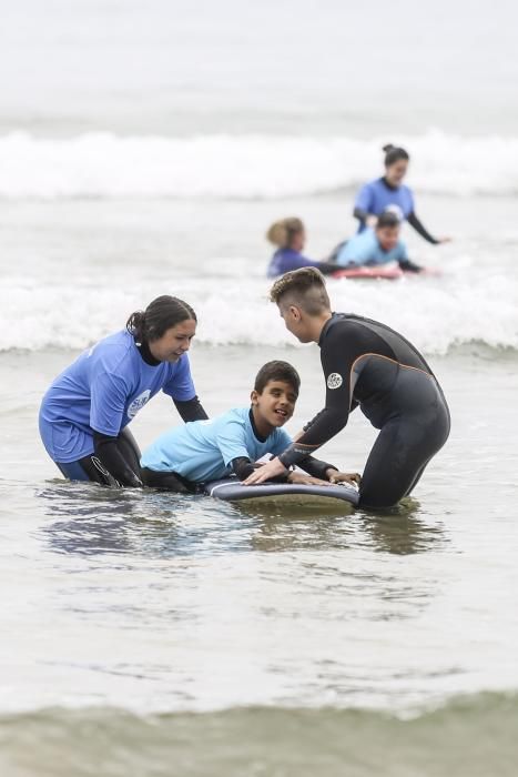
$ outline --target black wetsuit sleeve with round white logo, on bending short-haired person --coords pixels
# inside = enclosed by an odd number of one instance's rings
[[[358,356],[368,353],[364,334],[351,327],[347,336],[332,327],[322,345],[322,367],[326,381],[325,407],[305,426],[304,435],[280,455],[284,466],[298,464],[324,445],[347,424],[353,404],[352,372]]]

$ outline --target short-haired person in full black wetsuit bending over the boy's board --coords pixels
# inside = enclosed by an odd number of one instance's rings
[[[245,484],[274,477],[313,453],[344,428],[359,405],[380,430],[362,476],[359,505],[394,506],[448,438],[449,411],[435,375],[417,349],[385,324],[332,313],[324,278],[314,268],[280,278],[271,300],[297,340],[318,343],[326,404],[281,456]]]

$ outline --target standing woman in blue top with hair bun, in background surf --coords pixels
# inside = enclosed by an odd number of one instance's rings
[[[375,226],[377,218],[383,211],[390,208],[398,209],[402,220],[408,221],[421,238],[438,245],[448,243],[450,238],[434,238],[421,224],[415,212],[414,193],[403,183],[410,160],[405,149],[396,148],[390,143],[384,145],[385,175],[370,183],[366,183],[359,190],[354,203],[353,215],[359,221],[358,232],[367,226]]]

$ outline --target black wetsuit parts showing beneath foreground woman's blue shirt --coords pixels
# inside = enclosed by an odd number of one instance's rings
[[[146,364],[151,366],[160,364],[146,343],[136,343],[136,347]],[[197,396],[186,402],[173,401],[184,422],[203,421],[209,417]],[[91,455],[71,464],[58,463],[65,477],[111,486],[143,485],[140,468],[141,452],[128,427],[121,430],[116,437],[110,437],[93,430],[93,444],[94,452]]]

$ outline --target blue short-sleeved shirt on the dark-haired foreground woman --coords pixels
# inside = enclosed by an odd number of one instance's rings
[[[152,366],[125,330],[101,340],[43,397],[40,433],[47,452],[63,464],[89,456],[93,431],[115,437],[160,390],[180,402],[195,396],[187,354]]]

